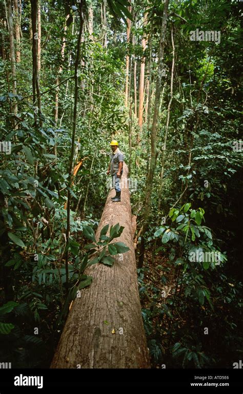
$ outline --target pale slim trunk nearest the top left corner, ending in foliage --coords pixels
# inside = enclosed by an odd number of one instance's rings
[[[8,28],[9,28],[9,47],[10,47],[10,61],[12,71],[12,93],[17,94],[17,77],[16,77],[16,64],[15,64],[15,53],[14,53],[14,35],[13,35],[13,14],[12,14],[12,2],[8,0]],[[18,107],[16,102],[13,104],[13,113],[17,116]],[[16,120],[13,121],[13,126],[16,128]]]

